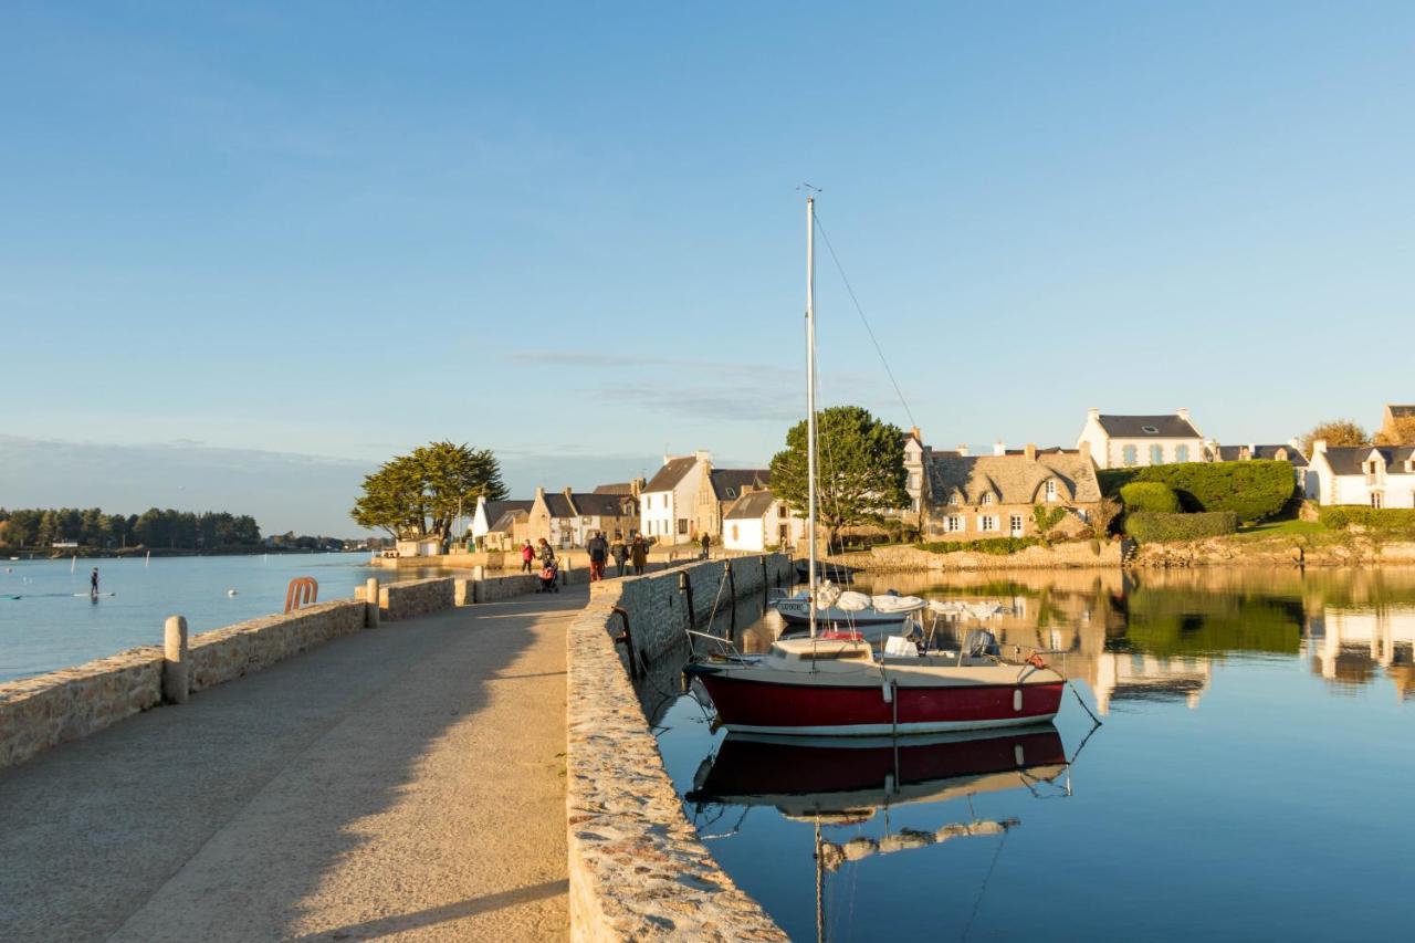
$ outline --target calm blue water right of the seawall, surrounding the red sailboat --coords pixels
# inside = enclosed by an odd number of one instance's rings
[[[829,940],[1408,937],[1415,573],[887,586],[1003,602],[989,627],[1064,650],[1104,725],[1085,741],[1068,694],[1054,726],[896,758],[727,738],[654,695],[689,818],[792,939],[818,913]]]

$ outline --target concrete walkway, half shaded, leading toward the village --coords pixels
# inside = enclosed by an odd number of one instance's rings
[[[563,937],[586,599],[345,636],[0,772],[0,940]]]

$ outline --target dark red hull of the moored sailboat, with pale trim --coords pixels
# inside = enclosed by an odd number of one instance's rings
[[[747,673],[691,665],[729,731],[795,736],[880,736],[1023,726],[1061,709],[1063,681],[1036,684],[775,684]]]

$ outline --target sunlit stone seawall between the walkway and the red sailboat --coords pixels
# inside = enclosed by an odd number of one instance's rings
[[[640,657],[681,644],[736,599],[790,586],[774,554],[594,583],[566,634],[570,939],[785,940],[683,816],[613,636],[628,613]],[[689,599],[691,609],[689,609]]]

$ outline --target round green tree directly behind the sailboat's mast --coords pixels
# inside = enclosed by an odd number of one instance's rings
[[[816,518],[829,542],[845,527],[876,522],[880,511],[906,507],[904,440],[897,426],[860,406],[816,413]],[[807,508],[807,423],[787,432],[771,459],[771,490],[799,513]]]

